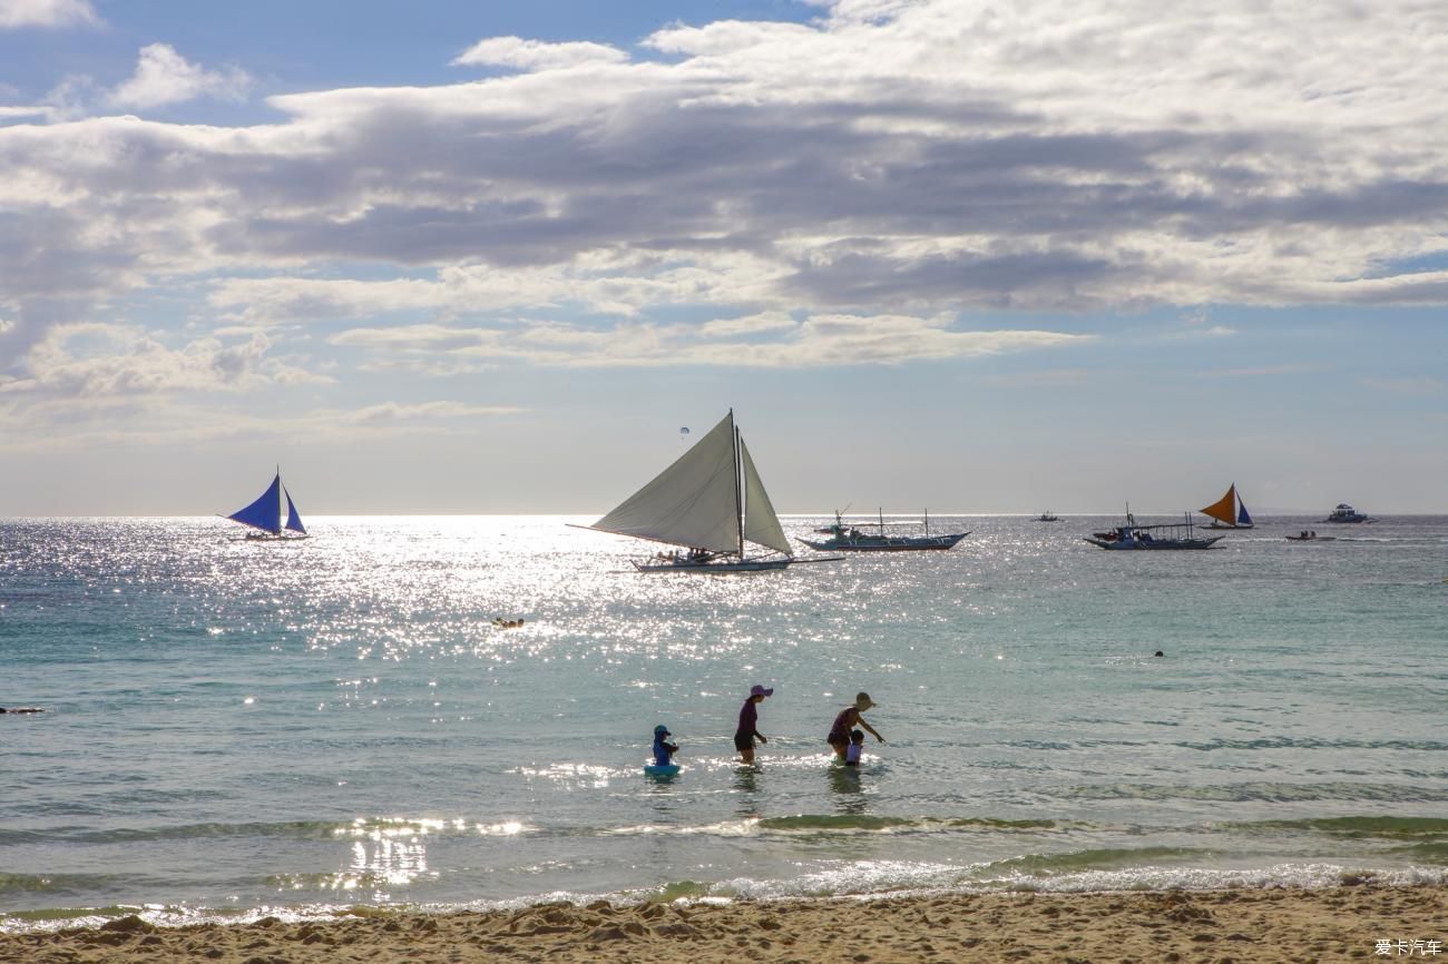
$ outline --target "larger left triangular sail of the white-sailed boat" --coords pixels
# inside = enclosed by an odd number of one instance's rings
[[[678,462],[589,528],[715,553],[737,553],[736,478],[734,415],[730,413]],[[778,520],[775,525],[779,525]]]

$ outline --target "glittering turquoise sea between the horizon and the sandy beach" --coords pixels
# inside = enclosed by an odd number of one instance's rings
[[[0,715],[0,931],[1448,881],[1448,517],[931,517],[970,536],[733,576],[588,521],[0,521],[0,705],[45,711]]]

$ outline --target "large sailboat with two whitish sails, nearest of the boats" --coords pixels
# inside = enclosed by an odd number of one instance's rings
[[[579,528],[685,549],[634,560],[639,572],[763,572],[798,562],[734,427],[733,408],[649,485]],[[773,551],[746,556],[746,543]]]

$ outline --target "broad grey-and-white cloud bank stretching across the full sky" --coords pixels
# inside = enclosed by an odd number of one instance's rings
[[[656,59],[492,38],[456,62],[504,75],[266,124],[0,126],[0,373],[140,389],[51,334],[178,285],[219,326],[195,352],[265,331],[303,372],[904,363],[1073,344],[1015,311],[1441,305],[1442,38],[1416,0],[841,0],[670,26]],[[152,45],[113,98],[245,80]]]

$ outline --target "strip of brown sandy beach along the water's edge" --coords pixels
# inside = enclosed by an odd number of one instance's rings
[[[1384,945],[1384,942],[1387,942]],[[1436,951],[1436,954],[1435,954]],[[471,964],[473,961],[1352,961],[1445,960],[1448,887],[1344,886],[986,895],[734,905],[544,905],[445,916],[0,936],[35,964]]]

